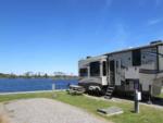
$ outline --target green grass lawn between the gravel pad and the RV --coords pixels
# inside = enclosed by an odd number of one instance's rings
[[[114,123],[163,123],[163,110],[150,108],[147,106],[140,106],[140,113],[133,113],[134,103],[130,102],[113,102],[104,100],[96,100],[85,96],[71,96],[64,91],[55,93],[57,100],[60,100],[72,106],[82,108],[88,112],[91,112],[95,115],[102,116]],[[0,101],[10,101],[13,99],[23,99],[23,98],[52,98],[52,93],[40,93],[40,94],[18,94],[18,95],[9,95],[0,96]],[[111,106],[117,106],[124,110],[123,114],[114,116],[104,116],[97,113],[98,108],[106,108]]]

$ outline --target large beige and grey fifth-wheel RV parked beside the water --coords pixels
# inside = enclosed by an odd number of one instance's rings
[[[111,98],[135,89],[150,98],[161,94],[163,84],[163,42],[130,48],[78,62],[79,83],[87,93],[98,91]]]

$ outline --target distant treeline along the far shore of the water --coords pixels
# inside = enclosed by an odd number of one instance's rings
[[[53,79],[77,79],[78,76],[75,75],[48,75],[47,73],[45,74],[32,74],[30,72],[26,72],[23,75],[16,75],[16,74],[4,74],[0,73],[0,78],[53,78]]]

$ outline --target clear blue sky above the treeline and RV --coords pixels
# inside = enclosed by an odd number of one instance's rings
[[[163,39],[162,0],[0,0],[0,72],[77,74],[86,56]]]

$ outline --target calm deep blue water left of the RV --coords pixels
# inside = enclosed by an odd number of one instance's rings
[[[70,84],[77,85],[76,79],[53,81],[50,78],[0,78],[0,93],[51,90],[52,84],[55,89],[67,89]]]

